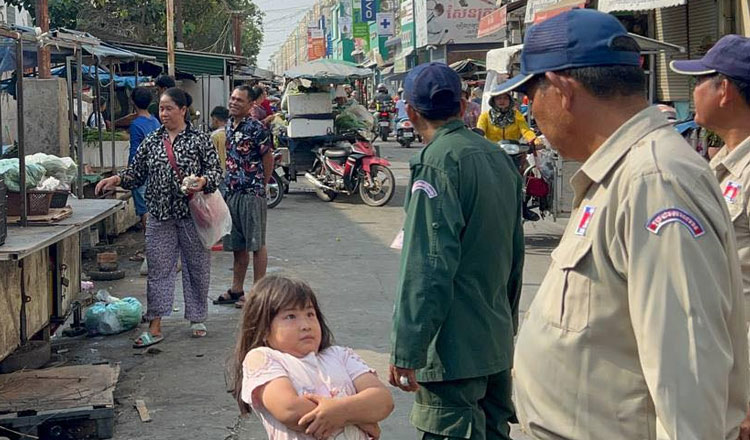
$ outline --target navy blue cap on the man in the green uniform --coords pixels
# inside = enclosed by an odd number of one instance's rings
[[[406,102],[427,119],[454,116],[461,106],[461,78],[443,63],[420,64],[404,79]]]

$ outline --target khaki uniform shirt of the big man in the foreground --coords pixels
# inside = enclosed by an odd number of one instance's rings
[[[540,439],[731,439],[748,402],[741,278],[718,182],[659,110],[571,181],[522,323],[517,410]]]

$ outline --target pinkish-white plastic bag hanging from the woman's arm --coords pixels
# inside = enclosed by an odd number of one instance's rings
[[[190,199],[190,215],[201,243],[210,249],[223,236],[232,232],[232,216],[218,191],[198,192]]]

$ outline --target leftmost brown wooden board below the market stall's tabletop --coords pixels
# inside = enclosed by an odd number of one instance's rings
[[[21,268],[0,261],[0,359],[21,343]]]

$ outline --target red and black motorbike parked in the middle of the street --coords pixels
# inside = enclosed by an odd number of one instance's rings
[[[368,206],[383,206],[393,198],[396,179],[390,162],[378,157],[372,143],[359,134],[330,136],[313,153],[313,166],[305,178],[324,202],[356,192]]]

